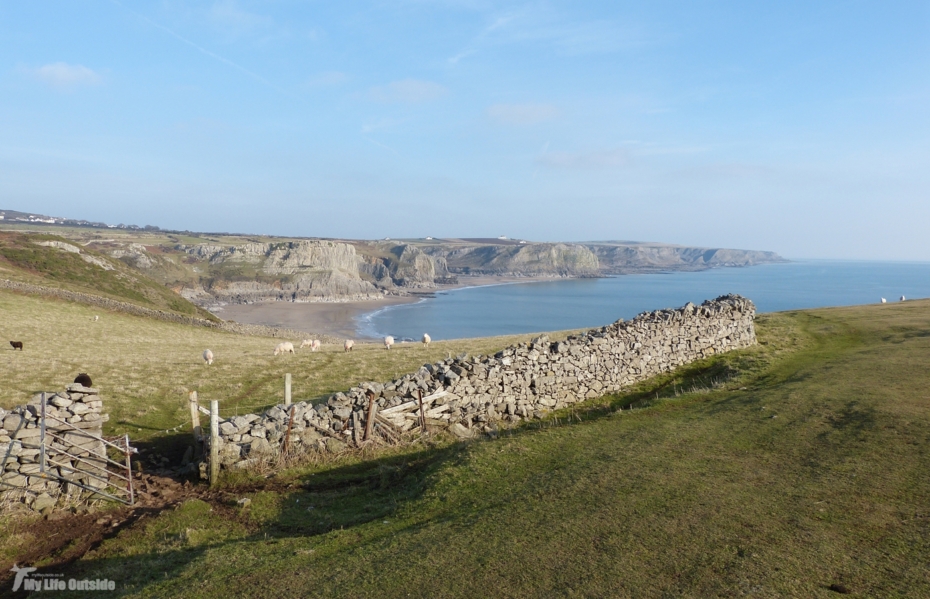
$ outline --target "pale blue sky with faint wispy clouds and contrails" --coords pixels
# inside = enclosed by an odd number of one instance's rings
[[[0,2],[0,208],[930,260],[930,3]]]

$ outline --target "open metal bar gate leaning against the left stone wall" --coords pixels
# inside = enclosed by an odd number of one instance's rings
[[[129,435],[103,437],[66,422],[46,410],[45,393],[40,408],[41,476],[132,505],[132,454],[138,450]]]

